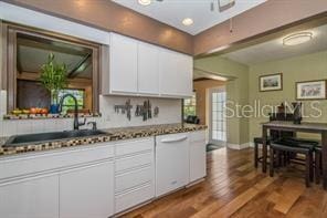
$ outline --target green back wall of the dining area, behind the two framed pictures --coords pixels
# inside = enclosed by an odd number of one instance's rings
[[[259,92],[259,76],[264,74],[283,73],[283,91]],[[312,81],[327,79],[327,51],[260,63],[250,66],[249,72],[249,102],[261,101],[262,104],[278,105],[283,101],[294,102],[295,83],[299,81]],[[313,112],[308,104],[310,101],[303,101],[306,114]],[[304,118],[304,121],[327,123],[327,101],[319,101],[323,116],[320,118]],[[267,121],[264,117],[249,120],[250,139],[260,136],[260,123]],[[312,136],[312,135],[310,135]]]

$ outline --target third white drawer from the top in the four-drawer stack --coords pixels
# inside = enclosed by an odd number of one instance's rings
[[[152,166],[118,175],[115,178],[115,193],[122,193],[124,190],[139,186],[141,184],[146,184],[148,181],[152,183],[154,177],[155,173]]]

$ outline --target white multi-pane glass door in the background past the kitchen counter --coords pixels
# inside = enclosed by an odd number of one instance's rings
[[[209,142],[211,144],[226,145],[226,92],[225,86],[210,89],[209,92]]]

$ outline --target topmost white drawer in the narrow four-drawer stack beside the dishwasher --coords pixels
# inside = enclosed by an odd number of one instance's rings
[[[128,141],[116,145],[116,156],[125,156],[154,149],[154,138]]]

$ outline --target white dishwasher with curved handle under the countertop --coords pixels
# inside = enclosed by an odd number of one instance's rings
[[[156,137],[156,196],[189,184],[189,134]]]

